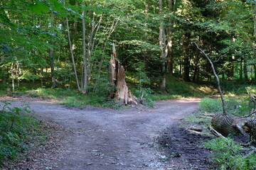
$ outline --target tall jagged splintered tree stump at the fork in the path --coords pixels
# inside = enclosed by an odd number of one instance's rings
[[[113,44],[113,55],[110,59],[110,82],[111,91],[110,98],[114,101],[124,105],[135,104],[137,105],[137,98],[129,91],[125,81],[124,67],[117,61],[117,52]]]

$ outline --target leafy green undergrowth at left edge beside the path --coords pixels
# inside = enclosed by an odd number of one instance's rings
[[[38,120],[29,115],[28,107],[11,106],[7,101],[0,103],[0,166],[26,151],[34,137],[41,135]]]

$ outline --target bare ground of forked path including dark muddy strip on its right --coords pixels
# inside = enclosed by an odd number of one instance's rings
[[[9,98],[0,98],[0,100]],[[21,98],[46,123],[48,141],[4,169],[210,169],[209,137],[181,124],[199,98],[157,101],[154,108],[68,107]]]

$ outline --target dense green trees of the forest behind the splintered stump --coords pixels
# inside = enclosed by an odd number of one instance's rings
[[[200,83],[255,79],[255,1],[1,1],[1,86],[109,86],[112,45],[127,81],[166,89],[166,79]]]

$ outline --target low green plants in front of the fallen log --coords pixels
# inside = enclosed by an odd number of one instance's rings
[[[255,152],[241,152],[242,147],[232,139],[218,137],[206,143],[212,151],[213,160],[218,169],[247,170],[256,169]]]

